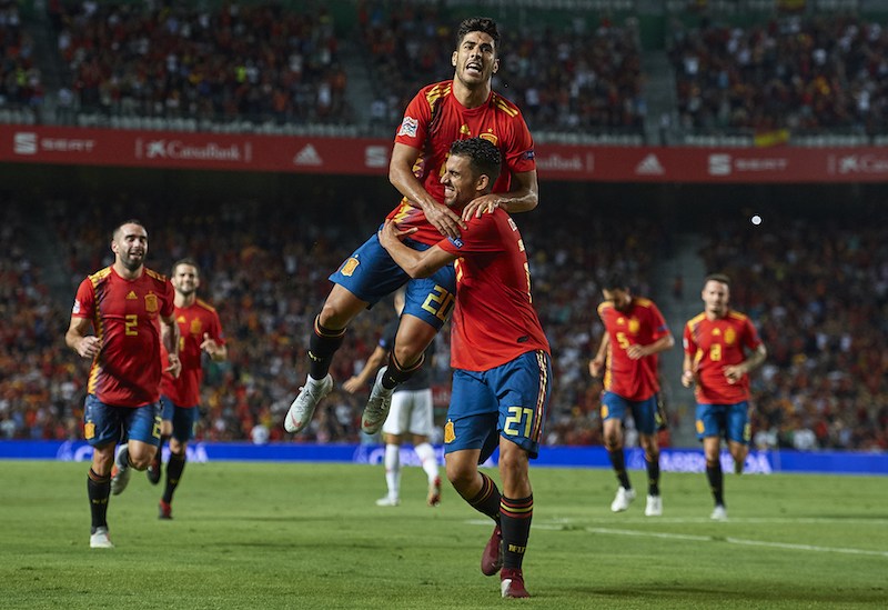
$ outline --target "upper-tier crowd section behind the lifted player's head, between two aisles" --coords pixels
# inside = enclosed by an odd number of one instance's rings
[[[396,124],[417,90],[453,78],[454,31],[441,24],[433,6],[386,6],[360,4],[359,23],[376,86],[373,118]],[[522,109],[532,130],[642,130],[637,22],[616,27],[605,18],[587,30],[582,17],[565,31],[504,28],[493,89]]]

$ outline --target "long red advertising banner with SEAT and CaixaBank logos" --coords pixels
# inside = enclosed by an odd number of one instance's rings
[[[0,161],[385,176],[392,142],[369,138],[0,126]],[[888,182],[888,148],[538,144],[541,180]]]

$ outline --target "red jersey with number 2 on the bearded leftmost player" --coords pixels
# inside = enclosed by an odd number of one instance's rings
[[[71,314],[91,319],[101,341],[89,393],[115,407],[160,400],[160,318],[173,314],[173,297],[170,280],[150,269],[125,280],[107,267],[80,282]]]

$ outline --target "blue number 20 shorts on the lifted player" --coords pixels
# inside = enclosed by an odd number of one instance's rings
[[[420,251],[431,248],[412,239],[405,239],[404,243]],[[423,280],[411,279],[380,244],[375,233],[330,276],[330,281],[367,301],[370,307],[406,283],[403,313],[420,318],[435,330],[441,330],[455,304],[456,272],[452,263]]]

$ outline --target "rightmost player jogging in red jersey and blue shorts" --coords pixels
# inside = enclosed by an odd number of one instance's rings
[[[706,476],[715,498],[712,519],[727,519],[719,452],[722,437],[734,457],[734,471],[743,472],[749,453],[749,371],[767,358],[767,350],[749,318],[728,308],[730,280],[707,276],[704,312],[685,324],[682,384],[696,383],[697,439],[706,453]],[[750,352],[746,357],[747,350]]]

